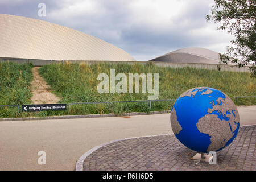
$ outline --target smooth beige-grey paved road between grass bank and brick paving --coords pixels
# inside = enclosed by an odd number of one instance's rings
[[[256,106],[238,107],[241,125],[256,124]],[[0,122],[0,170],[74,170],[76,160],[110,140],[172,133],[170,114]],[[46,152],[46,165],[38,152]]]

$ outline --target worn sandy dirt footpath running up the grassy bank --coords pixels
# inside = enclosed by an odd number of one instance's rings
[[[54,104],[57,103],[60,98],[49,91],[49,85],[46,81],[40,77],[38,69],[40,67],[32,68],[34,80],[31,82],[32,97],[31,101],[34,104]]]

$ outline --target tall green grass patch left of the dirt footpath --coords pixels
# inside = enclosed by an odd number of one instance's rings
[[[0,105],[30,103],[32,64],[0,63]],[[0,117],[18,117],[17,107],[0,107]]]

